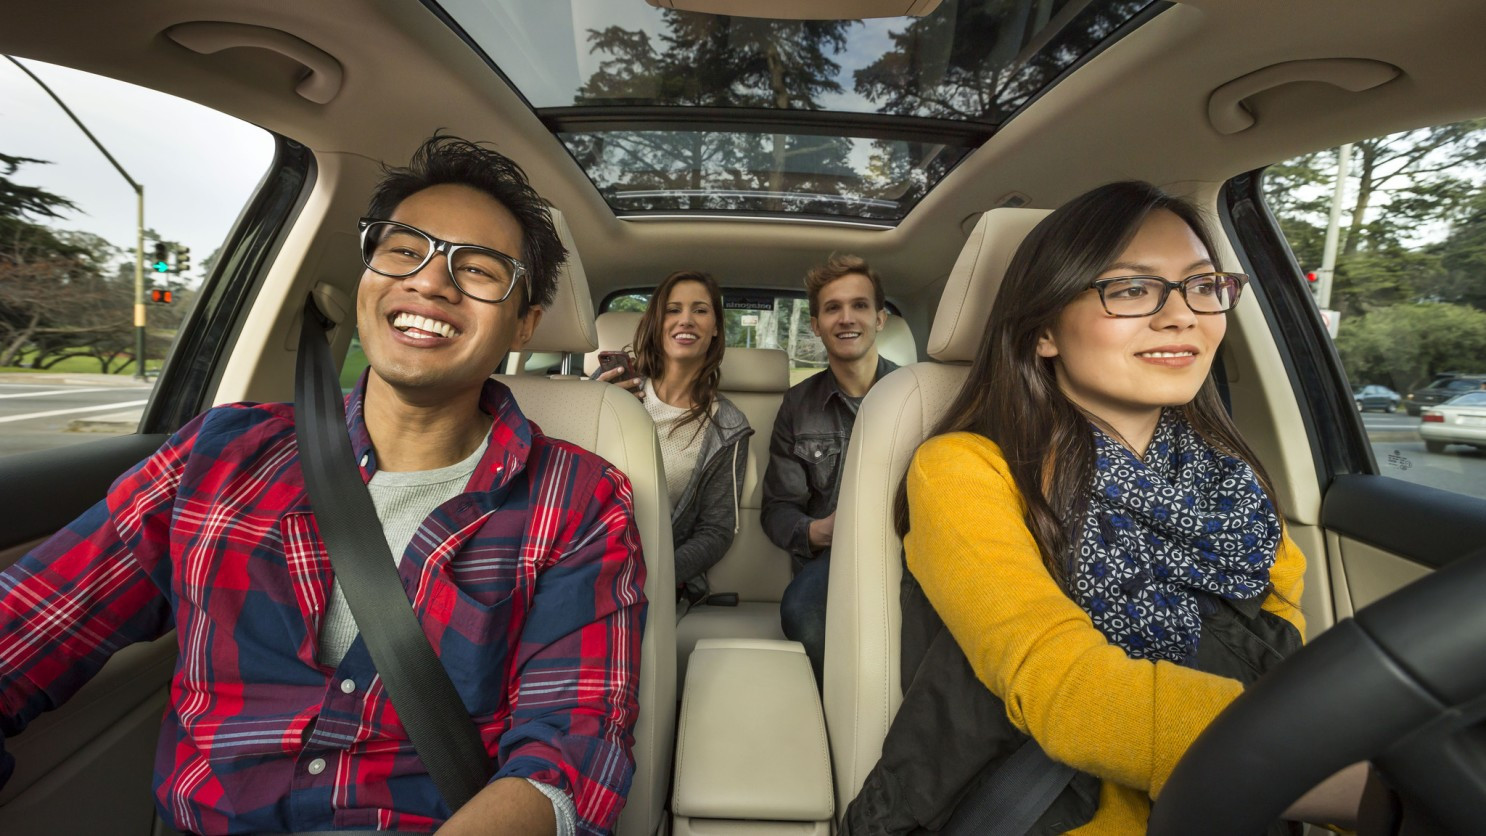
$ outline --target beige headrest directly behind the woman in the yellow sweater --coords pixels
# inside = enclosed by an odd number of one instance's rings
[[[1051,209],[991,209],[981,215],[939,297],[929,331],[929,356],[941,362],[975,359],[1012,255],[1027,233],[1051,214]]]

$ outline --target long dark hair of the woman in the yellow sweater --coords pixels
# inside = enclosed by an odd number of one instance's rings
[[[1048,572],[1065,590],[1070,533],[1085,512],[1094,472],[1092,416],[1058,389],[1054,359],[1037,356],[1037,339],[1119,258],[1153,211],[1181,218],[1216,255],[1198,208],[1149,183],[1112,183],[1062,205],[1012,257],[964,386],[932,434],[969,431],[1002,448],[1027,502],[1027,527]],[[1223,408],[1211,376],[1178,410],[1210,444],[1248,462],[1274,500],[1269,477]],[[899,536],[906,535],[906,480],[893,511]]]

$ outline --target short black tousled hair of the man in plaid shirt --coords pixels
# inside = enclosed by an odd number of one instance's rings
[[[505,206],[522,227],[517,255],[531,275],[531,297],[523,288],[520,315],[532,304],[548,304],[557,294],[557,269],[568,248],[557,236],[548,203],[526,181],[526,172],[499,151],[459,137],[434,134],[413,151],[406,168],[382,166],[382,181],[372,192],[367,217],[391,218],[397,206],[424,189],[453,183],[484,192]]]

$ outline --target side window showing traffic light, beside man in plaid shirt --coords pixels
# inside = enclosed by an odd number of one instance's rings
[[[138,428],[273,157],[270,134],[193,102],[19,64],[0,62],[0,120],[25,126],[0,138],[0,456]]]

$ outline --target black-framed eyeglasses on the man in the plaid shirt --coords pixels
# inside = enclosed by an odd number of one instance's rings
[[[528,278],[526,264],[499,249],[450,244],[397,221],[361,218],[361,263],[373,273],[403,279],[424,269],[438,252],[459,293],[478,301],[505,301]],[[531,294],[531,288],[526,288]]]

